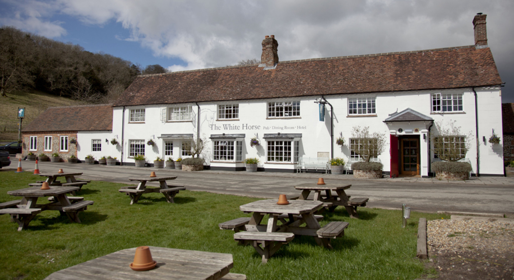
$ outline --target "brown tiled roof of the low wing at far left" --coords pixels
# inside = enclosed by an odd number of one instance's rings
[[[112,104],[50,107],[23,132],[113,130]]]

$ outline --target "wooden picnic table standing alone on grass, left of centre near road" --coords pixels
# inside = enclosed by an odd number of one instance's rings
[[[120,193],[126,193],[131,197],[130,204],[137,203],[139,198],[143,194],[148,193],[161,193],[166,198],[166,201],[169,203],[174,203],[175,201],[173,198],[179,193],[180,190],[185,190],[186,187],[184,186],[176,186],[176,185],[168,185],[166,181],[168,180],[175,180],[176,176],[169,176],[169,177],[135,177],[135,178],[128,178],[130,181],[139,181],[139,184],[137,186],[132,187],[125,187],[119,189]],[[158,188],[148,188],[146,187],[146,182],[159,182]]]

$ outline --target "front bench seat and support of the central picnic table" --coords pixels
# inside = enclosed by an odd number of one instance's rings
[[[238,232],[234,233],[237,241],[251,241],[255,251],[262,256],[262,263],[276,253],[283,244],[289,243],[295,234],[289,232]],[[262,247],[261,247],[262,246]]]

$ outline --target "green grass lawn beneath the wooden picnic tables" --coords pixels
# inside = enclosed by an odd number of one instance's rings
[[[29,172],[0,171],[0,202],[16,198],[7,191],[41,180]],[[416,258],[417,221],[448,218],[411,213],[401,228],[401,211],[358,208],[361,219],[352,219],[343,207],[324,213],[329,221],[350,223],[334,250],[317,246],[313,237],[295,237],[267,264],[251,246],[237,246],[233,232],[218,223],[247,216],[239,206],[258,199],[180,191],[174,204],[161,194],[145,194],[134,205],[119,193],[124,184],[92,181],[77,196],[95,201],[81,212],[81,224],[71,223],[57,211],[44,211],[27,230],[16,231],[8,215],[0,215],[0,279],[43,279],[86,260],[138,246],[158,246],[230,253],[233,273],[248,279],[414,279],[426,273]],[[46,200],[41,198],[39,202]],[[127,264],[127,269],[128,264]]]

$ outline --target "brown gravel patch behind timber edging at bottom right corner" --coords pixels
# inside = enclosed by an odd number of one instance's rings
[[[514,279],[514,224],[427,221],[427,246],[437,279]]]

